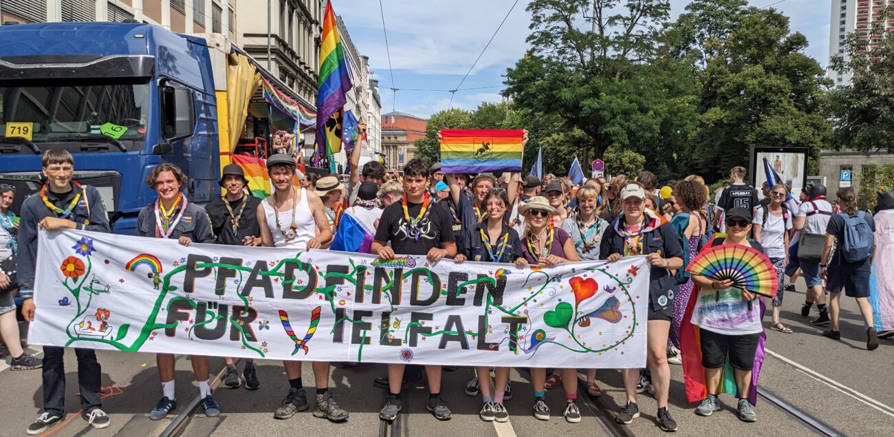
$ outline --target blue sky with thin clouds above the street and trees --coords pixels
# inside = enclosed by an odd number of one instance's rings
[[[779,0],[749,0],[763,7]],[[342,15],[350,39],[362,55],[369,56],[370,70],[379,80],[382,112],[395,110],[430,116],[451,105],[447,91],[409,89],[456,89],[487,39],[499,25],[514,0],[382,0],[392,71],[385,50],[382,16],[376,0],[332,0],[335,13]],[[671,0],[675,19],[688,0]],[[527,49],[530,30],[527,0],[519,4],[503,24],[484,56],[462,83],[461,88],[494,87],[501,74],[514,65]],[[772,6],[789,16],[792,31],[803,33],[810,43],[806,53],[828,64],[830,0],[783,0]],[[396,93],[389,90],[401,89]],[[452,106],[474,109],[482,101],[502,100],[502,86],[481,90],[461,90]]]

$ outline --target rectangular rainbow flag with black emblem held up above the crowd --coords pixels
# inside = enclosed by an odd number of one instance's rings
[[[441,131],[444,173],[520,172],[521,130],[444,129]]]

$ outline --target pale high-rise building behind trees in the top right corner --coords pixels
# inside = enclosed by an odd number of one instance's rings
[[[844,55],[844,43],[848,34],[857,32],[862,39],[869,38],[873,21],[878,21],[881,10],[894,0],[832,0],[831,25],[829,27],[829,57]],[[894,29],[894,20],[886,23]],[[849,85],[851,73],[829,70],[829,77],[835,85]]]

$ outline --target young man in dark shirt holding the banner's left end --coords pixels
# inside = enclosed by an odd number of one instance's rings
[[[46,183],[40,194],[21,204],[19,252],[16,270],[20,294],[24,298],[21,313],[26,321],[34,321],[34,276],[38,256],[38,228],[54,231],[80,229],[111,232],[102,196],[96,188],[72,180],[74,158],[68,150],[46,150],[40,159]],[[81,416],[94,428],[105,428],[111,419],[102,410],[102,366],[93,349],[76,347]],[[65,417],[64,347],[44,347],[43,395],[44,413],[28,427],[31,435],[44,433]]]

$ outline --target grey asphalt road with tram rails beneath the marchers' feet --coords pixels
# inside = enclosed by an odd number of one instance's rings
[[[803,283],[798,286],[803,290]],[[769,350],[761,373],[761,387],[805,413],[814,416],[843,435],[894,435],[894,341],[881,340],[875,351],[865,349],[865,331],[862,319],[853,299],[842,297],[841,341],[823,338],[820,328],[811,326],[800,316],[803,293],[788,293],[782,307],[782,320],[794,333],[785,334],[767,330]],[[815,312],[815,310],[814,310]],[[767,314],[769,327],[770,315]],[[38,416],[42,405],[40,371],[11,372],[6,364],[9,354],[5,349],[0,361],[0,387],[6,399],[3,407],[3,426],[0,435],[25,435],[25,429]],[[39,347],[32,347],[39,353]],[[66,405],[69,419],[53,430],[56,436],[89,435],[159,435],[172,423],[173,416],[153,422],[148,412],[161,397],[161,387],[155,369],[155,356],[99,352],[103,365],[105,387],[105,411],[112,417],[112,425],[104,430],[91,430],[75,413],[80,408],[77,397],[77,367],[72,352],[66,355],[67,387]],[[212,359],[212,369],[223,367],[223,360]],[[382,364],[348,366],[333,364],[331,387],[337,401],[350,411],[346,423],[333,424],[311,415],[310,410],[291,419],[278,421],[273,411],[288,390],[282,365],[274,361],[260,361],[258,376],[261,389],[255,391],[215,390],[223,414],[207,418],[199,413],[191,416],[183,435],[243,436],[243,435],[379,435],[378,411],[383,403],[383,390],[372,385],[375,376],[384,374]],[[312,385],[310,365],[304,365],[305,385]],[[688,404],[680,366],[672,365],[671,414],[679,423],[677,435],[784,435],[814,434],[811,428],[795,416],[761,398],[755,411],[758,422],[745,424],[735,416],[735,399],[721,398],[724,409],[710,417],[696,416],[695,404]],[[595,413],[583,401],[581,412],[584,419],[579,424],[569,424],[561,417],[564,400],[561,392],[547,393],[547,403],[552,409],[548,422],[531,416],[533,393],[527,372],[513,371],[511,381],[515,398],[506,402],[510,422],[485,423],[478,416],[480,398],[469,398],[463,387],[471,371],[460,368],[445,373],[443,397],[451,407],[453,418],[439,422],[425,409],[428,398],[423,386],[408,390],[401,415],[401,435],[449,436],[544,436],[544,435],[607,435],[608,430]],[[179,413],[197,393],[192,382],[188,356],[178,356],[177,397]],[[624,402],[620,373],[601,370],[598,381],[604,395],[598,404],[606,407],[613,417]],[[561,390],[561,389],[560,389]],[[312,387],[308,390],[312,402]],[[642,416],[627,426],[627,431],[638,436],[660,435],[655,424],[654,399],[639,395]],[[311,407],[312,408],[312,407]]]

